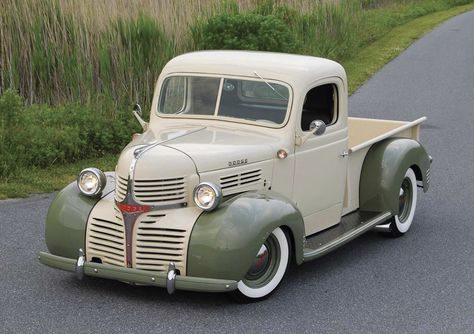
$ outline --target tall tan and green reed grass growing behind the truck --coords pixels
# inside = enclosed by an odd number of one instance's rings
[[[416,16],[465,2],[2,0],[0,94],[16,90],[29,104],[149,105],[162,66],[202,48],[191,32],[213,15],[274,15],[291,30],[294,52],[342,60],[409,17],[407,7]]]

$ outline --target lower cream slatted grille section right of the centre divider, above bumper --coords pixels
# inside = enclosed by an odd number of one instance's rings
[[[138,222],[135,234],[134,267],[167,271],[174,262],[185,273],[186,245],[189,231],[164,223],[164,214],[148,214]]]

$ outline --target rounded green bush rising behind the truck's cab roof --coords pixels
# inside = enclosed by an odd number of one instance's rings
[[[197,49],[294,52],[295,36],[275,15],[219,14],[192,27]]]

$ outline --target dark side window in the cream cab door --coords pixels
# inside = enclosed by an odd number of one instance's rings
[[[337,121],[337,86],[326,84],[314,87],[306,94],[303,112],[301,113],[301,129],[309,131],[314,120],[331,125]]]

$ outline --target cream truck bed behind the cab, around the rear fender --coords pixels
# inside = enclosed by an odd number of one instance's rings
[[[348,118],[349,166],[343,215],[359,208],[359,181],[362,164],[370,147],[386,138],[402,137],[419,139],[421,117],[413,122],[390,121],[371,118]]]

